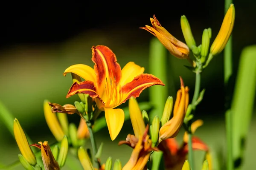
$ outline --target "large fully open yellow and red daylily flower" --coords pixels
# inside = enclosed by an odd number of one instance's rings
[[[92,47],[94,69],[88,65],[72,65],[64,71],[74,73],[85,81],[74,82],[66,97],[84,93],[96,98],[97,107],[105,111],[105,118],[112,140],[119,134],[123,122],[124,111],[114,109],[127,99],[138,97],[140,93],[152,85],[164,85],[151,74],[143,74],[144,68],[134,62],[128,62],[121,70],[115,54],[106,46]]]

